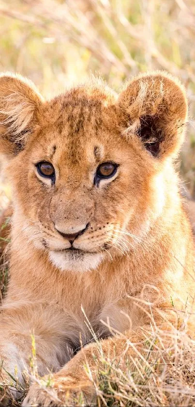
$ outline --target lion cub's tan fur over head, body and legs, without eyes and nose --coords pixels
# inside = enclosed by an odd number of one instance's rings
[[[80,337],[83,344],[92,340],[81,305],[105,354],[115,349],[116,357],[125,343],[109,338],[102,320],[141,343],[150,312],[166,330],[176,309],[182,320],[193,308],[193,238],[174,170],[187,120],[185,91],[155,72],[133,78],[119,97],[93,80],[44,102],[31,82],[5,75],[0,100],[0,150],[14,208],[0,354],[12,373],[18,364],[21,379],[34,332],[39,374],[59,371],[54,400],[34,384],[24,406],[61,406],[67,389],[82,389],[89,400],[95,390],[83,364],[87,357],[93,372],[97,345],[69,361]],[[142,136],[145,122],[149,138]],[[40,161],[55,167],[55,185],[37,173]],[[116,174],[94,185],[98,165],[110,161],[119,164]],[[82,255],[68,251],[55,225],[66,234],[87,225],[73,244]],[[192,312],[191,335],[194,328]]]

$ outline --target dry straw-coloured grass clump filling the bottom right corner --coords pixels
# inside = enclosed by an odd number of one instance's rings
[[[169,335],[171,344],[168,346],[163,332],[158,329],[145,332],[145,335],[145,351],[140,355],[137,350],[133,360],[125,358],[125,352],[131,346],[127,339],[120,366],[100,352],[100,358],[96,359],[95,380],[100,405],[195,405],[195,342],[181,331]]]

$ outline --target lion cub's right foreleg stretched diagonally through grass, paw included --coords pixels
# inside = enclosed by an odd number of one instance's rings
[[[143,326],[149,331],[150,326]],[[126,339],[127,338],[127,339]],[[127,337],[112,337],[97,343],[91,343],[80,350],[63,369],[53,376],[45,376],[40,383],[34,383],[29,390],[23,406],[97,406],[97,393],[94,383],[98,367],[105,369],[104,360],[115,360],[119,366],[125,357],[135,355],[134,346],[145,340],[142,330],[130,331]],[[140,345],[137,346],[141,349]],[[131,360],[131,358],[130,358]],[[101,368],[100,368],[101,370]],[[50,382],[50,387],[48,387]]]

